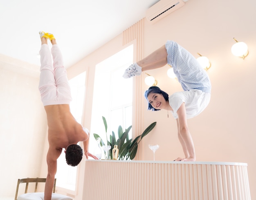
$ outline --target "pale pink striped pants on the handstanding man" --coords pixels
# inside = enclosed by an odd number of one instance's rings
[[[52,45],[52,56],[47,44],[42,44],[39,91],[44,106],[70,104],[72,100],[67,71],[57,44]],[[53,64],[52,64],[53,58]]]

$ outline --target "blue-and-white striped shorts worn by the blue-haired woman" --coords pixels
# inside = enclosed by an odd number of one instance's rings
[[[182,89],[189,91],[199,89],[211,93],[211,82],[207,72],[189,51],[174,41],[168,40],[165,44],[167,63],[173,67]]]

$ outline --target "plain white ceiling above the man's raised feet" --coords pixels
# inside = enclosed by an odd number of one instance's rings
[[[146,16],[159,0],[0,0],[0,54],[40,66],[39,31],[68,68]]]

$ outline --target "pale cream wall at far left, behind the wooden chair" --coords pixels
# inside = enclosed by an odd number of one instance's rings
[[[18,178],[40,175],[47,124],[38,75],[38,66],[0,55],[0,197],[14,199]]]

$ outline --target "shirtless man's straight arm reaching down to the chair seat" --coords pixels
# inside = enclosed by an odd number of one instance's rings
[[[62,149],[52,149],[51,147],[47,153],[48,173],[45,182],[45,200],[52,199],[52,189],[54,184],[55,174],[57,172],[57,159],[61,155]]]

